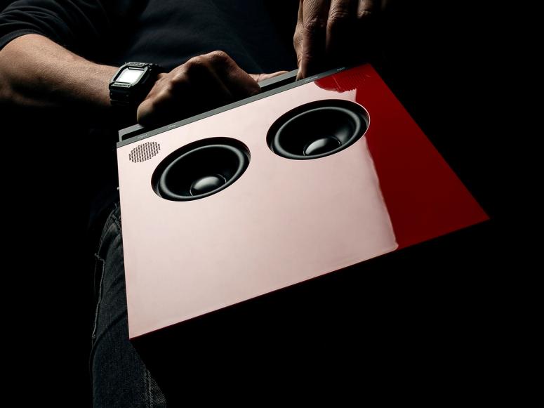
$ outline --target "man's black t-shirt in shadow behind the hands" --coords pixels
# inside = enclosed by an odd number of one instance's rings
[[[278,2],[275,2],[278,4]],[[0,48],[44,35],[96,62],[155,62],[171,69],[221,50],[252,73],[293,68],[297,1],[19,0],[0,13]]]

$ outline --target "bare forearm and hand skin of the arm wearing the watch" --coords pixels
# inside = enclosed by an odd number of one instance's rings
[[[108,84],[117,69],[27,34],[0,50],[0,105],[86,107],[107,117]],[[247,74],[222,51],[200,55],[159,75],[138,107],[138,121],[154,126],[211,110],[260,92],[258,81],[281,73]]]

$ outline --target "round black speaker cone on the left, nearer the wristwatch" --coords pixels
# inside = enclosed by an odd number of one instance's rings
[[[249,150],[239,140],[208,138],[175,150],[152,176],[154,192],[171,201],[190,201],[213,195],[246,171]]]

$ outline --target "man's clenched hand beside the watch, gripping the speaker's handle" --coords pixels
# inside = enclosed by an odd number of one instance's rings
[[[258,81],[274,74],[248,74],[223,51],[191,58],[168,74],[159,74],[138,107],[138,123],[157,126],[206,112],[260,92]]]

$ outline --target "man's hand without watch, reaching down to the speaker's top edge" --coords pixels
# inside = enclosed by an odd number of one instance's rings
[[[300,0],[293,37],[298,79],[361,58],[386,0]]]

